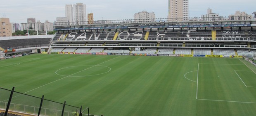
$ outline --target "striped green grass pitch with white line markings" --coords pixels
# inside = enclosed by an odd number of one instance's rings
[[[36,54],[0,61],[0,87],[95,115],[254,116],[255,72],[232,58]]]

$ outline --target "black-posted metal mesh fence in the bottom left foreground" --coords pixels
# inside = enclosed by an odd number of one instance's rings
[[[12,90],[0,88],[0,109],[5,109],[5,116],[8,111],[16,112],[17,114],[26,114],[26,116],[94,116],[82,114],[82,106],[75,107],[64,103],[59,103],[51,100],[30,96],[24,93],[19,93]],[[84,110],[84,111],[85,111]],[[13,114],[13,113],[12,113]]]

